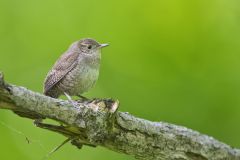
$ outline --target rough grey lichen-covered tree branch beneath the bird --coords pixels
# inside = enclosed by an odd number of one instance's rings
[[[82,145],[103,146],[137,159],[239,160],[240,150],[199,132],[165,122],[151,122],[116,111],[118,101],[92,102],[54,99],[4,82],[0,73],[0,109],[30,119],[49,118],[62,125],[38,127],[71,138]]]

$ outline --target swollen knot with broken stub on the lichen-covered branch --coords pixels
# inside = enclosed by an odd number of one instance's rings
[[[87,141],[101,144],[113,128],[115,113],[119,102],[112,99],[95,99],[87,106],[79,108],[81,112],[76,117],[75,124],[83,129]]]

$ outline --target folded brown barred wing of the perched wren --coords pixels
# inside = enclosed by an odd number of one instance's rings
[[[78,52],[66,52],[57,60],[45,79],[44,94],[77,65],[78,56]]]

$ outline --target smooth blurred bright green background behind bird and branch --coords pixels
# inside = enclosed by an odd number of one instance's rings
[[[239,0],[0,0],[0,70],[42,92],[46,73],[78,39],[102,51],[97,85],[85,96],[119,99],[121,111],[167,121],[240,148]],[[0,111],[0,159],[40,160],[65,138]],[[65,145],[52,160],[133,158]]]

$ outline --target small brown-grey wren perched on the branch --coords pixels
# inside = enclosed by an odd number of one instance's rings
[[[74,42],[48,72],[44,94],[53,98],[60,95],[79,96],[91,89],[99,75],[101,48],[94,39]]]

